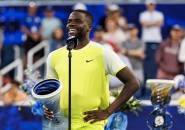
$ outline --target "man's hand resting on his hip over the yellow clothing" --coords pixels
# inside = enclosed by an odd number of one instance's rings
[[[97,121],[105,120],[107,119],[110,114],[107,112],[107,110],[94,110],[94,111],[87,111],[84,112],[84,121],[88,122],[91,121],[90,123],[95,123]]]

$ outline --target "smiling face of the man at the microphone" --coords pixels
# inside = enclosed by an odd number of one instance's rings
[[[82,39],[90,31],[90,25],[85,14],[80,12],[72,12],[67,23],[68,36],[76,36]]]

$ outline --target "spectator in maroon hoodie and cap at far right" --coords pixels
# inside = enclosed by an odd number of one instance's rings
[[[156,53],[158,64],[157,78],[173,79],[183,73],[183,64],[178,60],[178,53],[182,38],[182,29],[174,25],[170,30],[170,38],[165,40]]]

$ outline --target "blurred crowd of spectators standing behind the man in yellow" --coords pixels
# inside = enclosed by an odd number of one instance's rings
[[[141,30],[136,23],[128,23],[123,14],[122,8],[118,5],[108,5],[106,15],[100,19],[95,27],[92,40],[103,46],[114,50],[120,58],[133,70],[141,83],[141,90],[137,96],[143,97],[147,94],[147,79],[174,79],[176,75],[185,72],[185,35],[181,25],[174,24],[169,32],[169,36],[163,39],[161,29],[165,21],[163,12],[156,9],[157,3],[154,0],[147,0],[146,9],[139,14]],[[52,6],[47,6],[44,10],[44,17],[37,15],[39,6],[30,2],[27,9],[27,16],[21,21],[21,32],[24,34],[24,44],[20,45],[22,50],[23,64],[26,66],[27,52],[38,45],[41,41],[49,41],[50,52],[65,46],[64,23],[56,17]],[[73,9],[88,10],[86,5],[78,3]],[[141,33],[141,37],[139,37]],[[0,68],[11,63],[15,57],[14,46],[3,44],[3,34],[5,30],[0,29]],[[41,51],[37,56],[43,55]],[[12,91],[17,91],[18,83],[12,80],[12,75],[4,76],[5,81],[10,80],[12,89],[0,95],[0,100],[5,103],[24,99],[24,94],[19,94],[17,98]],[[114,80],[114,79],[113,79]],[[112,81],[114,82],[114,81]],[[114,83],[111,84],[114,87]],[[14,89],[13,89],[14,88]],[[176,90],[178,91],[178,90]],[[11,96],[8,96],[11,95]],[[5,100],[7,99],[7,100]]]

